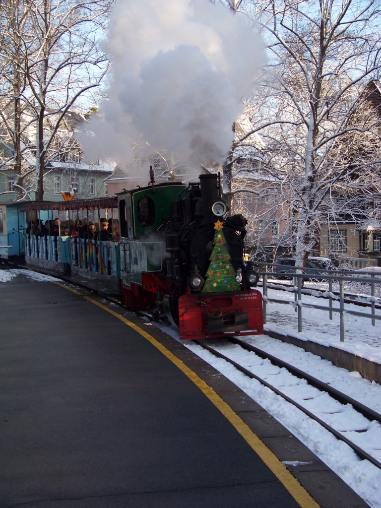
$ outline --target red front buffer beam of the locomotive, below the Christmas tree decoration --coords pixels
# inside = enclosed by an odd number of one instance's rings
[[[257,290],[200,293],[179,298],[181,340],[263,333],[262,295]]]

